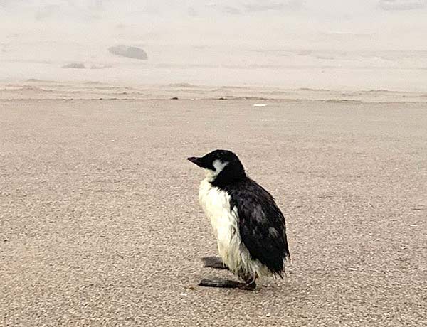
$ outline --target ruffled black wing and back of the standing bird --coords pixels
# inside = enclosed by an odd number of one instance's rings
[[[280,277],[283,261],[290,259],[285,218],[268,191],[251,179],[227,189],[236,207],[243,244],[253,259]]]

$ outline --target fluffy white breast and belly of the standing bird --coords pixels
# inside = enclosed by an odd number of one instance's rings
[[[220,257],[232,272],[260,277],[265,274],[265,269],[258,260],[251,259],[242,244],[238,230],[238,213],[236,208],[230,209],[230,195],[212,186],[209,181],[207,176],[200,183],[199,203],[214,227]]]

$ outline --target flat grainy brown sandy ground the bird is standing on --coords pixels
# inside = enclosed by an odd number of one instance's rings
[[[12,98],[1,326],[427,324],[426,103]],[[285,280],[197,286],[230,277],[186,161],[216,148],[285,213]]]

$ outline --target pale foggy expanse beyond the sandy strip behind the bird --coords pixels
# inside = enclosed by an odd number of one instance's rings
[[[427,90],[425,0],[0,0],[0,37],[1,82]]]

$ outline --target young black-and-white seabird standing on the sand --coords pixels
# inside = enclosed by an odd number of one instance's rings
[[[256,279],[283,278],[290,261],[285,217],[273,195],[246,174],[232,151],[216,149],[187,158],[204,168],[199,204],[211,221],[219,257],[204,257],[205,267],[229,269],[243,282],[204,278],[200,286],[254,290]]]

